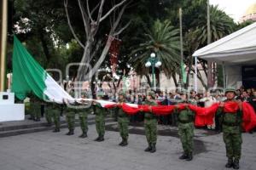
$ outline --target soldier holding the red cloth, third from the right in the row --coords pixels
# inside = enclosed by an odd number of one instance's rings
[[[143,105],[157,105],[154,100],[154,92],[150,91],[147,94],[147,99]],[[146,138],[148,141],[148,148],[145,151],[154,153],[156,151],[155,144],[157,139],[157,116],[154,116],[152,112],[144,113],[144,127]]]

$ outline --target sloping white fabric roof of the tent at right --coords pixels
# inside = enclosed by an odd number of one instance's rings
[[[229,65],[256,65],[256,22],[196,50],[193,56]]]

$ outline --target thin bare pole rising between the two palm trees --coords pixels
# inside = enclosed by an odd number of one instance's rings
[[[181,65],[181,86],[183,87],[183,9],[179,8],[179,36],[180,36],[180,65]]]

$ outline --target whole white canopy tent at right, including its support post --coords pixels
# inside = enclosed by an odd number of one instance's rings
[[[195,68],[197,58],[223,65],[224,87],[236,86],[237,82],[241,82],[241,66],[256,65],[256,22],[196,50],[193,56]],[[197,91],[197,78],[195,90]]]

